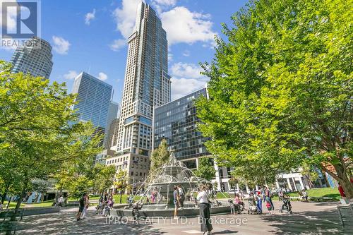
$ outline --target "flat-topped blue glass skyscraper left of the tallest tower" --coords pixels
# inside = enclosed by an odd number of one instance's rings
[[[73,109],[78,109],[81,121],[91,121],[102,133],[107,127],[112,89],[112,85],[85,72],[80,73],[73,83],[73,94],[78,94],[78,104]]]

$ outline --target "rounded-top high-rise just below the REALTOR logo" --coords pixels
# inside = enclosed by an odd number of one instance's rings
[[[52,46],[39,37],[32,37],[23,47],[17,47],[11,58],[12,72],[30,73],[35,77],[49,78],[52,73]]]

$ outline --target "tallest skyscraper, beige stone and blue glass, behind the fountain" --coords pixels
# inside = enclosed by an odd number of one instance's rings
[[[167,53],[167,34],[160,19],[148,4],[140,3],[135,28],[128,37],[119,133],[114,147],[126,162],[123,167],[131,176],[130,183],[140,181],[148,171],[153,107],[170,101]]]

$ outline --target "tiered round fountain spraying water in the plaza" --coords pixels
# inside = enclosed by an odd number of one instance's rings
[[[184,164],[178,162],[172,151],[169,162],[164,164],[160,169],[151,172],[148,179],[140,186],[138,191],[142,191],[143,195],[134,195],[133,199],[139,205],[141,217],[172,217],[174,216],[174,186],[183,188],[185,194],[184,207],[178,210],[179,216],[193,217],[199,215],[199,210],[195,198],[197,188],[201,185],[208,185],[212,188],[210,181],[197,177],[193,171],[188,169]],[[150,200],[152,192],[155,194],[155,200]],[[220,192],[218,192],[220,193]],[[214,200],[211,205],[211,214],[229,213],[230,207],[227,202],[227,196],[223,193],[222,199]],[[116,210],[119,217],[131,217],[131,207],[121,207]]]

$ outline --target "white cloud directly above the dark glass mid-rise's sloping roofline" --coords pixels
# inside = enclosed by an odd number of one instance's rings
[[[207,80],[171,78],[172,81],[172,100],[188,95],[205,86]]]

